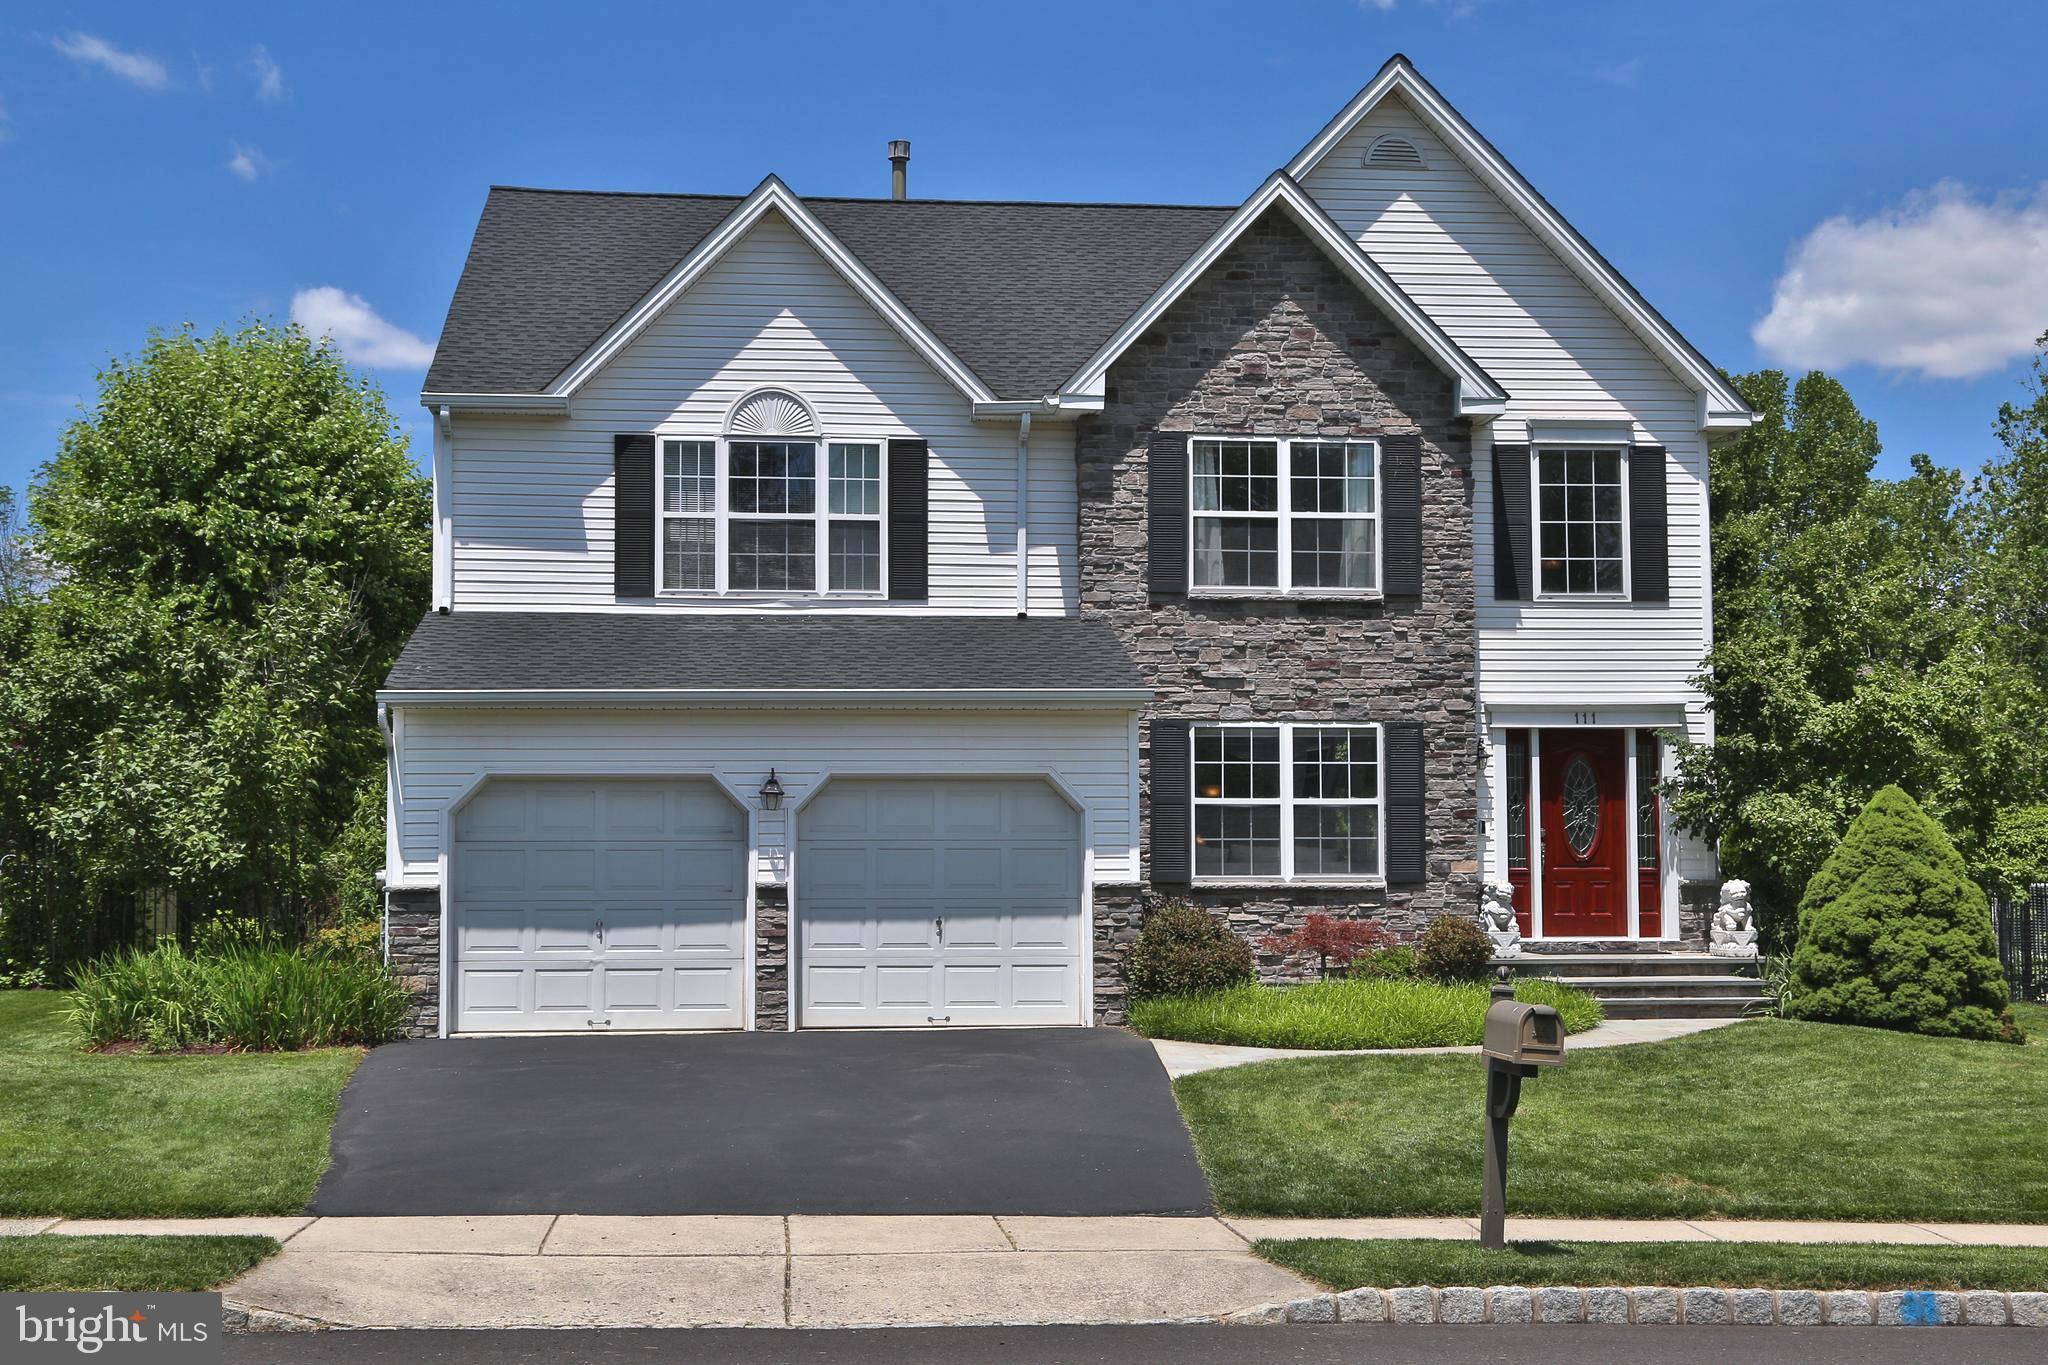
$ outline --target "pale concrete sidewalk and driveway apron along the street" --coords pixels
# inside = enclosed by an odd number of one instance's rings
[[[1470,1218],[209,1218],[4,1232],[260,1234],[225,1289],[309,1326],[1190,1322],[1298,1297],[1260,1238],[1475,1240]],[[2048,1246],[2048,1226],[1513,1218],[1516,1240]]]

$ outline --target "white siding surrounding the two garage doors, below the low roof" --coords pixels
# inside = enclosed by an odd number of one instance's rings
[[[762,876],[778,874],[791,810],[825,774],[1051,774],[1087,806],[1096,882],[1137,880],[1128,712],[399,706],[395,724],[395,821],[414,884],[438,876],[442,819],[487,774],[717,776],[754,810]],[[770,765],[780,810],[754,798]]]

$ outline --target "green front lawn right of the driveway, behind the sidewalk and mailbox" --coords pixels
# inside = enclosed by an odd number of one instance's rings
[[[1174,1085],[1227,1214],[1479,1212],[1473,1056]],[[1757,1019],[1573,1054],[1522,1091],[1507,1203],[1563,1218],[2048,1222],[2048,1054]]]

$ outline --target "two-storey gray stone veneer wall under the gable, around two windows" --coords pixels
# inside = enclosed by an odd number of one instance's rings
[[[1122,956],[1145,905],[1184,896],[1253,943],[1311,911],[1399,935],[1479,905],[1477,630],[1470,440],[1456,385],[1280,211],[1253,223],[1110,368],[1081,422],[1081,612],[1110,620],[1157,690],[1147,718],[1417,720],[1427,880],[1407,886],[1153,888],[1151,739],[1139,751],[1147,880],[1096,888],[1096,1017],[1124,1019]],[[1214,436],[1421,434],[1419,600],[1186,598],[1149,591],[1155,430]],[[1282,548],[1284,553],[1284,548]],[[1262,952],[1268,980],[1311,968]]]

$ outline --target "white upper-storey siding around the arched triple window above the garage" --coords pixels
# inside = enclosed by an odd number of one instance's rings
[[[592,377],[573,415],[455,417],[455,608],[614,608],[612,436],[705,440],[764,385],[811,403],[823,442],[872,442],[885,452],[891,438],[930,442],[930,604],[911,610],[1016,610],[1016,424],[977,424],[958,389],[774,215]],[[1077,612],[1071,426],[1032,426],[1026,477],[1030,608]],[[805,608],[887,610],[858,600]]]

